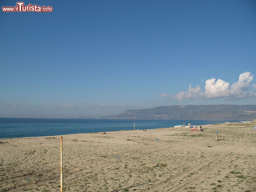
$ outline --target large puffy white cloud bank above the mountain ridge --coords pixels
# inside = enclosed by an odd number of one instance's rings
[[[230,86],[229,82],[215,78],[211,78],[205,81],[205,92],[201,91],[200,86],[192,87],[189,84],[188,91],[181,91],[176,95],[173,95],[175,99],[195,99],[195,98],[227,98],[227,99],[241,99],[256,96],[256,93],[248,92],[254,75],[250,72],[244,72],[239,75],[238,82],[234,82]],[[256,84],[252,85],[256,89]]]

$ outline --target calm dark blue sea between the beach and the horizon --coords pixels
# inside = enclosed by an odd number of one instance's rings
[[[175,125],[205,125],[240,120],[126,120],[126,119],[35,119],[0,118],[0,138],[39,137],[135,129],[155,129]],[[241,120],[242,121],[242,120]]]

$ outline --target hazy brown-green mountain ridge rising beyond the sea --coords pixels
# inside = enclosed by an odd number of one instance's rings
[[[80,119],[82,117],[79,117]],[[256,119],[256,105],[171,105],[126,110],[96,119]]]

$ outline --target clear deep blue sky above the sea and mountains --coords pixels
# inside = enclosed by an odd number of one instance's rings
[[[256,104],[256,1],[61,2],[1,10],[0,117]]]

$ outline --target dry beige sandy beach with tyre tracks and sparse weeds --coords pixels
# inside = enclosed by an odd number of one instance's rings
[[[64,191],[256,191],[254,126],[63,135]],[[0,141],[1,192],[60,191],[60,136]]]

